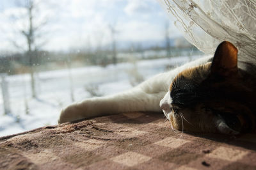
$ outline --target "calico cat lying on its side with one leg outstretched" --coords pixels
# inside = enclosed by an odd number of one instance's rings
[[[222,42],[213,58],[161,73],[129,91],[72,104],[61,111],[59,123],[122,112],[163,111],[177,130],[250,132],[255,129],[256,111],[253,69],[251,63],[237,61],[232,43]]]

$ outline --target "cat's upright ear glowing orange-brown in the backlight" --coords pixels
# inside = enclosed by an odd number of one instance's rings
[[[232,43],[220,43],[212,60],[211,73],[221,76],[237,73],[237,52]]]

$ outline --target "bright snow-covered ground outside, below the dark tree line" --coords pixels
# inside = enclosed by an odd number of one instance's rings
[[[198,58],[193,56],[192,58]],[[154,59],[132,63],[120,63],[106,68],[88,66],[72,70],[56,70],[36,73],[37,98],[31,98],[29,75],[6,77],[10,95],[11,114],[4,115],[2,93],[0,92],[0,136],[16,134],[45,125],[56,125],[62,107],[97,95],[109,95],[132,88],[132,71],[138,70],[143,79],[164,72],[167,66],[182,65],[188,57]],[[72,81],[70,81],[72,77]],[[72,87],[72,88],[70,88]],[[27,107],[26,107],[27,103]]]

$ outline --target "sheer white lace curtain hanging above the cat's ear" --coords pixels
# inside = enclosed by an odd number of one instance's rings
[[[256,61],[255,0],[159,0],[175,26],[205,54],[227,40],[244,60]],[[173,17],[172,17],[173,19]],[[240,58],[241,59],[241,58]]]

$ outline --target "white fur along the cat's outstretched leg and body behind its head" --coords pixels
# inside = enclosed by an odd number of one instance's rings
[[[129,91],[107,97],[89,98],[83,102],[69,105],[61,111],[59,123],[122,112],[161,112],[160,101],[162,105],[170,104],[170,101],[168,101],[170,94],[168,95],[166,92],[168,92],[174,77],[186,68],[206,63],[210,58],[210,56],[200,58],[169,72],[160,73]],[[161,100],[164,95],[166,97]]]

